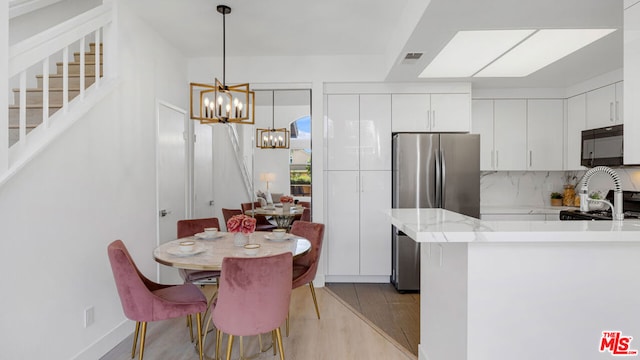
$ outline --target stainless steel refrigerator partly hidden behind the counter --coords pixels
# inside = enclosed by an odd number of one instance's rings
[[[393,135],[393,207],[443,208],[480,217],[480,135]],[[420,246],[393,227],[391,282],[420,289]]]

